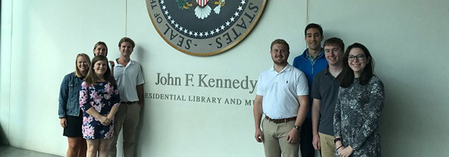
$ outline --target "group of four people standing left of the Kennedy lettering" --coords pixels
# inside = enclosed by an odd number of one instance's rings
[[[134,47],[132,39],[123,37],[117,59],[108,61],[102,41],[95,44],[92,61],[85,53],[76,56],[75,71],[65,75],[59,92],[67,157],[115,157],[122,127],[124,155],[134,157],[145,83],[141,65],[130,59]]]

